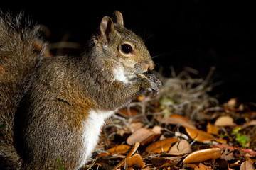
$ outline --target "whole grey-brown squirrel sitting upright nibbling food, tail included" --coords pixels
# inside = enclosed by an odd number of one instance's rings
[[[38,26],[0,15],[0,169],[81,169],[104,121],[134,96],[157,94],[142,38],[105,16],[79,56],[46,56]],[[138,76],[139,74],[144,75]]]

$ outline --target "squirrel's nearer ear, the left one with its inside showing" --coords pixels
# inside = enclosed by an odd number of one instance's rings
[[[100,34],[102,36],[102,40],[105,44],[109,42],[110,33],[114,32],[114,23],[112,19],[108,16],[102,18],[100,23]]]

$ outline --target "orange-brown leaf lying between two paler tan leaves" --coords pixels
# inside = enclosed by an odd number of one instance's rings
[[[146,147],[146,152],[154,152],[154,153],[161,153],[161,152],[168,152],[171,145],[174,142],[178,142],[178,138],[171,137],[165,140],[158,140],[154,143],[151,143],[148,147]]]

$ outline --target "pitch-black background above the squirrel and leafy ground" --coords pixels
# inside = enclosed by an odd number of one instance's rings
[[[33,4],[32,4],[33,3]],[[255,40],[256,13],[252,4],[234,1],[4,1],[2,11],[23,12],[47,26],[50,42],[68,41],[82,45],[90,38],[103,16],[117,9],[124,26],[144,38],[155,57],[156,69],[170,75],[192,67],[206,77],[215,66],[213,81],[220,102],[239,97],[256,102]]]

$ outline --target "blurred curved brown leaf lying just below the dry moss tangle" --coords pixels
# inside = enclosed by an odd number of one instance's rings
[[[185,118],[181,115],[170,115],[168,118],[165,118],[161,121],[161,123],[166,123],[166,124],[173,124],[173,125],[182,125],[184,127],[188,127],[191,129],[196,129],[196,127],[189,121],[188,118]]]

